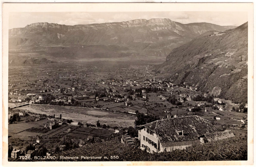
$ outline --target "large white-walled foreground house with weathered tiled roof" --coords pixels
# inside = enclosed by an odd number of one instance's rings
[[[199,116],[184,116],[142,125],[138,129],[138,138],[141,148],[153,153],[185,149],[192,144],[201,143],[200,136],[216,132],[216,128],[208,120]]]

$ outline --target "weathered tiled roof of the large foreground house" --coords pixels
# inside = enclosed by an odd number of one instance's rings
[[[161,143],[198,140],[203,134],[217,131],[208,120],[199,116],[161,119],[145,124],[140,129],[144,127],[156,133]],[[182,130],[184,130],[183,136],[179,135]]]

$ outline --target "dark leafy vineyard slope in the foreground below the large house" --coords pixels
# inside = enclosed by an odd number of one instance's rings
[[[196,144],[185,150],[174,150],[150,154],[141,149],[124,146],[118,140],[85,145],[67,150],[55,156],[118,156],[118,159],[96,159],[95,161],[213,161],[213,160],[247,160],[247,136],[237,134],[234,138],[207,144]],[[62,160],[63,161],[63,160]],[[68,160],[66,160],[68,161]],[[71,161],[71,160],[70,160]],[[91,161],[78,159],[73,161]]]

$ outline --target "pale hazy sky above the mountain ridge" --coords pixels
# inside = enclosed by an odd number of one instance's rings
[[[183,24],[207,22],[220,26],[239,26],[248,21],[247,12],[10,12],[9,29],[39,22],[77,25],[151,18],[169,18]]]

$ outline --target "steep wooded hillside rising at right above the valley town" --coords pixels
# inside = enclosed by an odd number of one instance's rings
[[[247,102],[248,23],[222,32],[206,32],[173,49],[157,67],[174,83],[194,84],[217,97]]]

